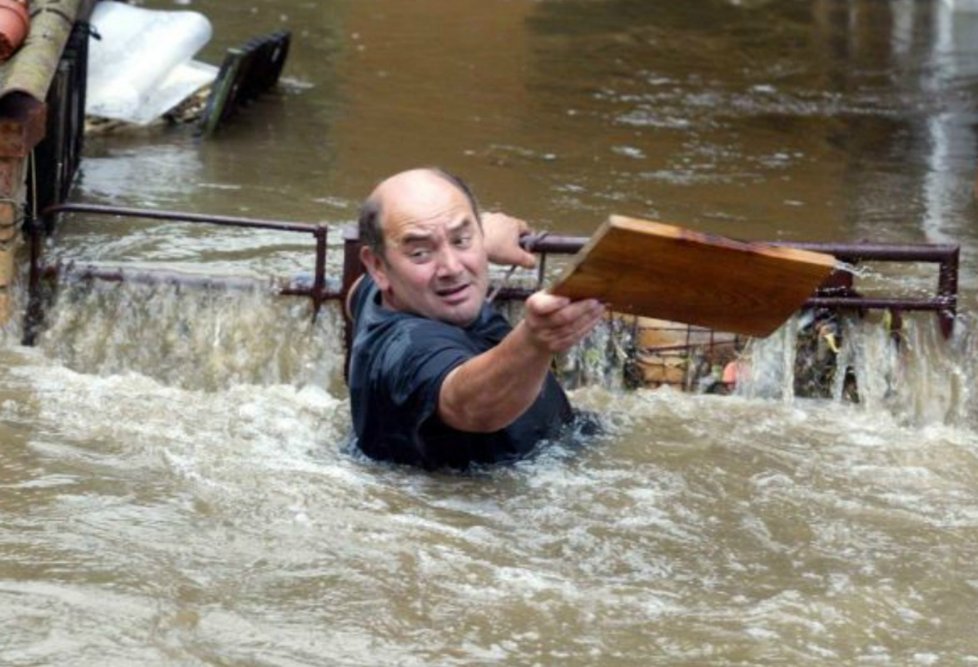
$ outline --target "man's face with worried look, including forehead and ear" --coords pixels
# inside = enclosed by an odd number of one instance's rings
[[[368,251],[364,258],[384,305],[468,325],[489,282],[475,212],[464,193],[439,177],[402,190],[383,199],[385,256]]]

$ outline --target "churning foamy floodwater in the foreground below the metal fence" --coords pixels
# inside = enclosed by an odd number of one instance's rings
[[[941,364],[967,368],[954,356],[971,349],[966,334],[945,344],[911,322],[893,354],[888,334],[852,325],[858,373],[887,374],[861,385],[859,404],[786,399],[784,371],[770,395],[753,397],[592,384],[572,400],[601,415],[604,435],[511,467],[429,475],[343,451],[346,397],[316,380],[340,368],[326,357],[332,348],[320,358],[310,345],[301,363],[281,364],[294,352],[288,342],[242,361],[252,340],[335,334],[330,321],[325,332],[295,334],[307,320],[281,317],[262,295],[244,303],[265,312],[221,306],[221,297],[219,314],[197,319],[180,315],[198,307],[177,307],[181,295],[133,294],[173,299],[154,306],[170,313],[166,328],[202,328],[182,334],[191,342],[169,356],[93,354],[70,349],[89,340],[80,334],[90,316],[55,313],[65,340],[3,352],[11,363],[0,407],[23,429],[24,460],[7,483],[44,495],[0,540],[16,567],[59,572],[55,583],[36,579],[67,596],[31,596],[26,575],[26,609],[55,639],[15,625],[18,655],[79,650],[58,638],[83,616],[117,628],[99,644],[109,656],[131,655],[126,638],[148,636],[148,660],[175,662],[324,652],[387,661],[404,644],[406,664],[444,657],[447,645],[456,664],[579,662],[621,646],[624,661],[667,651],[692,662],[966,650],[954,615],[973,608],[965,582],[978,580],[967,557],[978,528],[970,395],[928,403],[903,386],[938,382]],[[149,321],[150,310],[134,321]],[[213,370],[190,363],[198,350]],[[932,350],[949,360],[913,356]],[[791,367],[777,345],[769,358]],[[35,469],[43,472],[32,478]],[[38,530],[49,526],[59,529]],[[96,599],[86,583],[108,571],[134,609],[125,618],[110,606],[119,597]],[[971,593],[941,598],[958,584]],[[91,599],[72,602],[73,591]],[[25,604],[22,592],[10,596]],[[952,617],[937,623],[937,608]],[[932,641],[910,639],[921,628]]]

